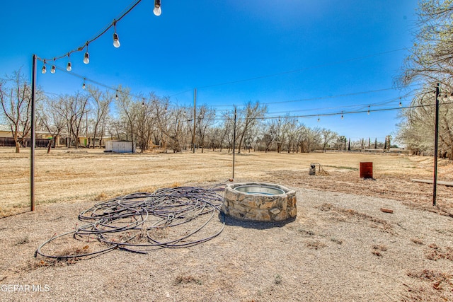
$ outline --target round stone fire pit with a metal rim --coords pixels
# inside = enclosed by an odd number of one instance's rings
[[[297,215],[296,192],[262,182],[227,185],[222,211],[243,220],[284,221]]]

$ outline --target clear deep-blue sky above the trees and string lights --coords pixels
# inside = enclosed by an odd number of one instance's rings
[[[0,75],[22,68],[30,76],[32,54],[59,57],[84,45],[130,4],[7,1],[0,13]],[[343,120],[322,115],[410,101],[407,90],[388,88],[413,44],[416,0],[161,0],[161,5],[156,17],[154,1],[142,0],[117,23],[120,48],[113,47],[112,28],[89,45],[90,64],[82,62],[84,52],[71,54],[72,72],[107,86],[128,86],[133,94],[154,91],[178,105],[193,104],[194,88],[197,104],[217,110],[259,101],[268,104],[268,116],[315,115],[301,121],[353,140],[384,141],[396,130],[398,110]],[[56,64],[64,68],[67,58]],[[40,74],[41,67],[38,62],[37,83],[47,93],[81,91],[79,77],[61,70]]]

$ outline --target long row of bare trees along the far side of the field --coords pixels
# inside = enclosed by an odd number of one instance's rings
[[[30,136],[30,85],[21,70],[0,80],[3,120],[11,126],[16,151]],[[130,88],[116,91],[86,86],[72,94],[46,95],[40,88],[36,98],[36,130],[55,140],[67,137],[67,146],[79,148],[79,137],[88,146],[101,146],[105,137],[133,141],[142,151],[159,147],[180,152],[195,146],[205,149],[235,149],[308,153],[327,149],[382,148],[371,139],[351,142],[330,129],[306,127],[296,117],[265,117],[268,108],[248,102],[233,110],[217,111],[208,105],[175,105],[154,93],[134,95]],[[236,132],[235,132],[236,130]],[[236,135],[235,135],[236,134]],[[236,139],[236,141],[234,141]],[[368,144],[366,144],[368,141]],[[50,147],[50,145],[49,145]]]

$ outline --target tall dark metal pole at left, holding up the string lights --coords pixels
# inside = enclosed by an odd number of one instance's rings
[[[33,54],[31,72],[31,146],[30,146],[30,211],[35,211],[35,98],[36,54]]]

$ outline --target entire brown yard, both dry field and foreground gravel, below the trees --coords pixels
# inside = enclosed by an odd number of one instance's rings
[[[411,182],[432,179],[432,158],[236,154],[234,182],[296,190],[295,220],[226,217],[219,236],[188,248],[51,261],[36,248],[84,224],[78,214],[96,202],[226,182],[232,156],[38,150],[30,212],[28,152],[0,149],[0,301],[453,301],[453,187],[439,185],[432,207],[432,185]],[[359,177],[360,162],[373,163],[374,180]],[[323,173],[310,176],[310,163]],[[440,161],[438,175],[452,181],[453,163]]]

